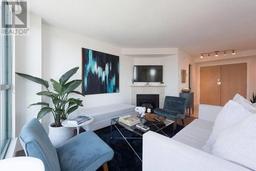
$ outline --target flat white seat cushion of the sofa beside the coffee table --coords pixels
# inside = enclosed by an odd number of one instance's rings
[[[212,131],[211,127],[213,125],[214,122],[203,119],[195,119],[193,122],[185,126],[172,139],[201,150],[202,146],[205,144],[205,141],[210,136]]]

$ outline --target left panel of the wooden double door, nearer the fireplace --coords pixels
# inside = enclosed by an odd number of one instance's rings
[[[200,104],[221,104],[220,81],[221,66],[201,67],[200,69]]]

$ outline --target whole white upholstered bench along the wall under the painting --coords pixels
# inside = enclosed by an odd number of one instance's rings
[[[111,125],[111,119],[135,112],[135,105],[118,103],[77,111],[77,116],[92,116],[94,121],[82,126],[86,131],[95,131]]]

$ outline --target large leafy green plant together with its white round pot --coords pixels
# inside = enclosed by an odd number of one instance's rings
[[[41,105],[42,108],[37,114],[37,119],[41,119],[48,113],[52,113],[54,117],[54,123],[49,125],[49,138],[51,139],[54,146],[60,145],[62,142],[67,141],[68,139],[73,137],[73,129],[71,127],[64,127],[61,125],[63,120],[66,120],[68,116],[78,109],[79,106],[83,106],[81,99],[68,98],[69,94],[75,93],[84,96],[78,91],[74,91],[81,83],[82,80],[77,79],[70,82],[67,82],[70,77],[72,77],[79,67],[73,68],[63,74],[59,78],[59,82],[54,79],[50,79],[53,92],[49,91],[49,83],[46,80],[41,78],[33,77],[31,75],[16,73],[17,75],[24,77],[28,80],[41,84],[46,88],[46,91],[41,91],[36,93],[40,96],[47,96],[52,100],[52,107],[47,102],[37,102],[30,104],[33,105]],[[29,107],[30,107],[29,106]],[[28,108],[29,108],[28,107]]]

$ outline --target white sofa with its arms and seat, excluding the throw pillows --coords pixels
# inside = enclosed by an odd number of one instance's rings
[[[199,119],[173,138],[158,133],[143,135],[143,171],[153,170],[250,170],[202,151],[221,106],[201,104]]]

